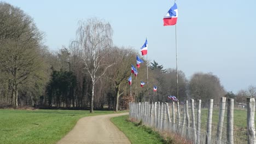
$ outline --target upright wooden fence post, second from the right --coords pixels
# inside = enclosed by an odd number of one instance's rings
[[[228,144],[234,144],[234,99],[228,99],[226,117],[226,140]]]

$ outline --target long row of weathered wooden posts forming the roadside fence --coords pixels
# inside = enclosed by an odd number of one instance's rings
[[[169,104],[171,104],[169,106]],[[234,99],[213,99],[202,103],[130,103],[130,118],[159,131],[177,133],[192,143],[256,143],[255,99],[247,98],[247,109],[238,108]],[[195,115],[196,113],[196,115]]]

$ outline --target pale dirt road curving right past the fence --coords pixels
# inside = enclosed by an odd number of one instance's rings
[[[127,137],[109,120],[111,117],[127,114],[118,113],[81,118],[75,127],[57,143],[130,143]]]

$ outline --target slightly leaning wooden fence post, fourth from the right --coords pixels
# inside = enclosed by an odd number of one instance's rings
[[[210,99],[208,118],[207,118],[207,130],[206,130],[206,144],[210,144],[212,140],[212,109],[213,99]]]

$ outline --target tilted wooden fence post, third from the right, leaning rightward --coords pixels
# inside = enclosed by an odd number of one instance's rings
[[[223,128],[223,121],[224,121],[224,113],[225,113],[225,106],[226,106],[226,97],[220,98],[219,104],[219,121],[218,121],[218,128],[217,128],[217,143],[222,143],[222,128]]]

